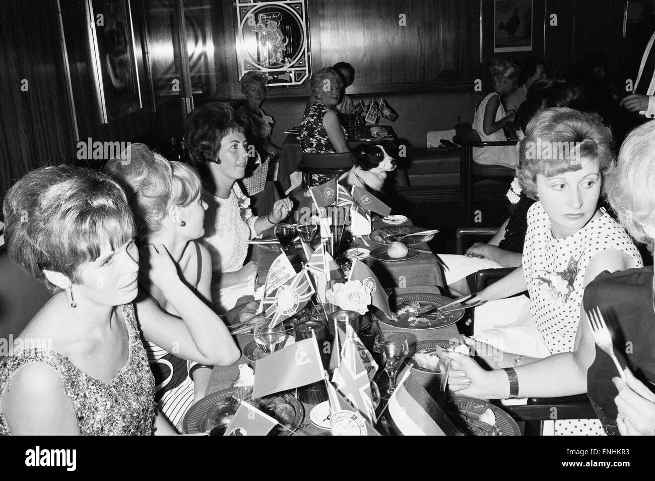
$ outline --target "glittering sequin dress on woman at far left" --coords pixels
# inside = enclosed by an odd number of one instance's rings
[[[130,336],[130,355],[109,383],[90,377],[56,351],[30,349],[0,360],[0,401],[18,368],[33,362],[47,364],[57,372],[66,395],[73,402],[81,434],[153,434],[155,379],[139,337],[134,307],[126,304],[121,310]],[[1,411],[0,434],[11,434]]]

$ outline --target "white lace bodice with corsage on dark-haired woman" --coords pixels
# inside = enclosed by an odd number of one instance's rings
[[[227,199],[205,190],[202,199],[208,204],[202,243],[212,254],[212,268],[214,272],[238,271],[248,256],[248,240],[257,236],[250,199],[236,183]]]

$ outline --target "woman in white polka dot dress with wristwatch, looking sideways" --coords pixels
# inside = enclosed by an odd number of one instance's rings
[[[538,202],[528,212],[523,265],[472,300],[493,301],[528,290],[533,341],[550,356],[539,360],[489,348],[483,357],[496,369],[484,371],[471,358],[451,355],[453,391],[496,399],[586,393],[586,370],[595,351],[582,308],[584,287],[603,271],[643,265],[623,227],[598,207],[603,174],[613,164],[611,144],[612,134],[597,115],[548,109],[529,124],[517,178]],[[486,334],[502,339],[513,329]],[[488,346],[476,345],[479,352],[483,347]],[[556,421],[555,433],[604,431],[598,421],[572,419]]]

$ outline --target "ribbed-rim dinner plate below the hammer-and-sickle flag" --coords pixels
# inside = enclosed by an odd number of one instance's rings
[[[223,389],[223,391],[217,391],[205,396],[196,404],[189,408],[187,414],[185,414],[184,419],[182,420],[182,429],[185,434],[194,434],[194,433],[204,433],[206,432],[207,419],[206,415],[210,409],[214,408],[220,401],[226,400],[227,398],[236,398],[236,399],[250,399],[250,389],[245,387],[233,387],[231,389]],[[282,394],[272,394],[272,396],[265,396],[264,399],[277,398],[281,397],[284,399],[286,404],[289,404],[293,409],[293,422],[290,426],[287,426],[291,431],[295,431],[303,420],[305,411],[303,410],[303,405],[295,397],[291,396],[289,393]],[[253,402],[253,405],[257,407],[257,402]],[[238,404],[234,404],[234,412],[238,409]],[[232,413],[234,414],[234,413]],[[290,431],[284,429],[281,426],[276,426],[273,429],[277,431],[278,436],[288,436],[291,434]]]

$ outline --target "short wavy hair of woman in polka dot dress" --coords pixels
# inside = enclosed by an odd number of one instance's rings
[[[546,109],[534,116],[519,147],[516,177],[521,189],[536,199],[536,176],[552,177],[580,170],[580,159],[598,162],[601,175],[614,163],[612,132],[595,113],[567,107]]]

